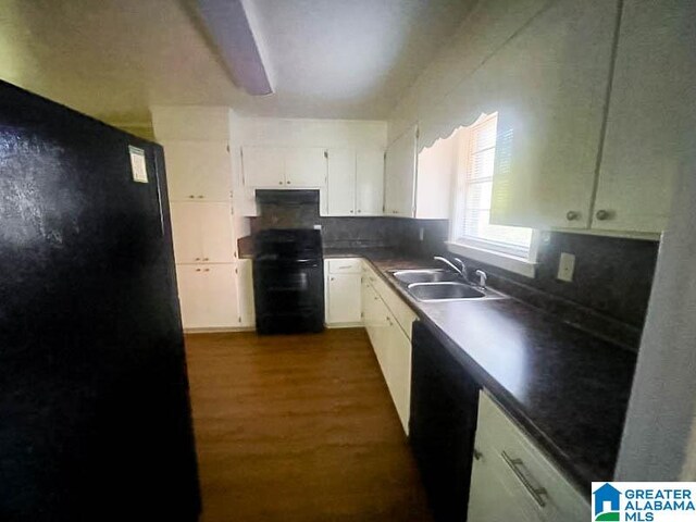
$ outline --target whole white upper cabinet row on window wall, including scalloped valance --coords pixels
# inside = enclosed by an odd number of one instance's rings
[[[663,231],[696,130],[689,20],[680,0],[555,2],[419,114],[424,139],[391,141],[385,213],[449,217],[458,151],[436,149],[457,140],[435,138],[497,112],[492,223]]]

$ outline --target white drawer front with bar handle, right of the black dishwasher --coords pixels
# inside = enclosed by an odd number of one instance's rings
[[[525,490],[540,519],[589,520],[587,500],[486,391],[478,402],[475,446],[487,463]]]

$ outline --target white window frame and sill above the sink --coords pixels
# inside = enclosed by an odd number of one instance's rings
[[[463,256],[475,261],[498,266],[510,272],[514,272],[526,277],[535,277],[536,260],[542,234],[538,229],[532,229],[530,248],[515,248],[514,245],[501,244],[495,240],[487,240],[481,237],[465,236],[459,234],[461,223],[464,222],[465,198],[468,186],[468,173],[470,169],[471,133],[493,117],[498,117],[497,112],[481,114],[478,119],[467,127],[460,127],[455,133],[458,141],[457,172],[452,182],[451,213],[449,222],[449,233],[447,248],[450,252]],[[496,139],[497,141],[497,139]],[[497,147],[497,144],[496,144]],[[478,151],[482,152],[482,151]],[[488,178],[486,178],[488,179]],[[461,201],[463,199],[463,202]],[[462,241],[463,240],[463,241]]]

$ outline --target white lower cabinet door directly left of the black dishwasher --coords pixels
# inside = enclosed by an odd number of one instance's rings
[[[388,321],[388,332],[387,384],[403,431],[408,435],[411,402],[411,340],[394,320]]]

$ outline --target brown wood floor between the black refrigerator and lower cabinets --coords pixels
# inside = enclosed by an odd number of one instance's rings
[[[363,330],[186,350],[203,522],[431,520]]]

